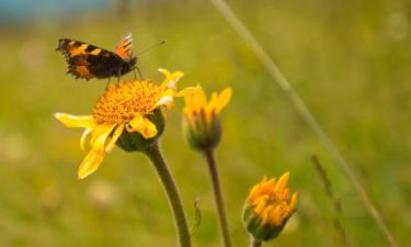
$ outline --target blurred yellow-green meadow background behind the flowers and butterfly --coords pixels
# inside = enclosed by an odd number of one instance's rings
[[[115,148],[95,173],[78,181],[85,156],[79,148],[81,132],[53,117],[58,111],[90,114],[106,83],[65,75],[57,40],[114,49],[127,32],[136,50],[168,40],[139,58],[147,78],[160,81],[157,68],[167,68],[185,72],[180,88],[233,88],[216,156],[235,246],[248,243],[240,215],[249,189],[263,175],[286,170],[289,188],[299,191],[299,210],[266,246],[343,246],[332,202],[311,164],[313,154],[341,199],[341,224],[351,246],[388,246],[352,182],[208,1],[94,2],[65,11],[38,1],[31,10],[36,14],[14,16],[5,8],[10,1],[0,1],[2,13],[10,15],[0,19],[0,246],[176,246],[171,212],[148,159]],[[411,2],[228,2],[352,164],[399,244],[408,245]],[[193,203],[201,201],[203,221],[193,246],[219,246],[206,165],[181,134],[181,109],[179,100],[169,112],[162,148],[191,224]]]

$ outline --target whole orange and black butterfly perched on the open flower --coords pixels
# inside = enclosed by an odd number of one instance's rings
[[[60,50],[67,61],[67,74],[76,78],[119,78],[138,69],[137,57],[133,56],[132,34],[125,35],[114,52],[71,38],[60,38],[56,50]]]

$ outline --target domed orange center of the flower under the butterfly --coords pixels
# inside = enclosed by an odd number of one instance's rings
[[[149,80],[130,80],[111,85],[93,109],[96,124],[127,124],[136,115],[146,115],[161,99],[162,89]]]

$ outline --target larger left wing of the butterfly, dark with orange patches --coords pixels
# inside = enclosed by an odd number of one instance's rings
[[[116,76],[123,59],[115,53],[70,38],[58,41],[57,50],[62,53],[68,74],[76,78],[107,78]]]

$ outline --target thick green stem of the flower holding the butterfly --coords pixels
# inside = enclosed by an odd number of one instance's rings
[[[167,166],[164,158],[162,157],[158,143],[156,142],[153,145],[147,148],[145,154],[150,158],[165,189],[170,205],[173,211],[180,246],[191,247],[190,232],[183,203],[181,201],[180,193],[175,186],[171,171]]]

